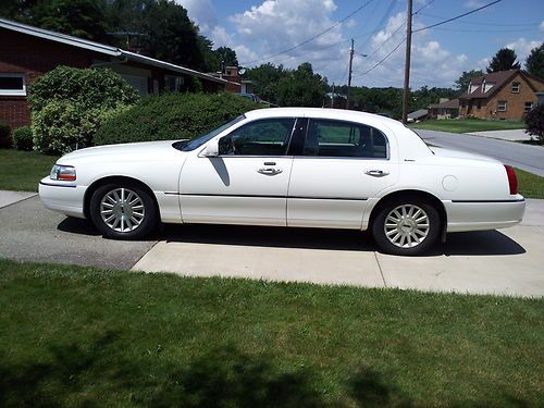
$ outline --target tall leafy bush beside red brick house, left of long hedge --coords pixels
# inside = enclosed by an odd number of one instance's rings
[[[101,122],[139,97],[113,71],[58,66],[30,85],[28,99],[34,146],[57,154],[90,146]]]

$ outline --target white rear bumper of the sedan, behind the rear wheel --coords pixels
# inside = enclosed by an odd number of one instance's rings
[[[518,195],[500,201],[443,201],[447,232],[483,231],[516,225],[526,212],[526,200]]]

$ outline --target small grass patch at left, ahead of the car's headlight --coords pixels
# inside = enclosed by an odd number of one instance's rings
[[[39,181],[49,174],[57,159],[36,151],[0,149],[0,189],[37,191]]]

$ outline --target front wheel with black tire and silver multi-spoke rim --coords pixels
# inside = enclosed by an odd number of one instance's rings
[[[115,197],[121,198],[122,194],[125,195],[124,206],[121,200],[114,202]],[[134,205],[131,206],[131,202]],[[157,205],[149,193],[128,182],[98,187],[90,198],[89,210],[92,223],[108,238],[139,239],[151,234],[159,224]],[[106,213],[102,214],[102,211]],[[110,217],[113,219],[110,220]]]

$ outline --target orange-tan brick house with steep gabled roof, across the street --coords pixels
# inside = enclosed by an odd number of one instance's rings
[[[470,82],[459,97],[459,115],[521,121],[543,90],[543,79],[521,70],[492,72]]]

